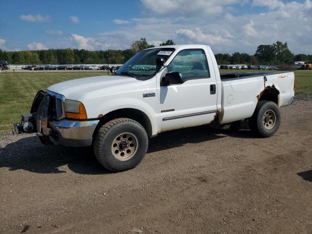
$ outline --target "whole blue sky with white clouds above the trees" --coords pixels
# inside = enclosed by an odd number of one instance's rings
[[[128,49],[146,38],[254,54],[280,40],[312,54],[311,22],[312,0],[0,0],[0,49]]]

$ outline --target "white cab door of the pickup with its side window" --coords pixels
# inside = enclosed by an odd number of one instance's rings
[[[168,65],[167,72],[180,72],[183,83],[160,84],[158,97],[162,130],[196,126],[214,120],[217,111],[216,80],[214,75],[211,76],[205,51],[181,50]]]

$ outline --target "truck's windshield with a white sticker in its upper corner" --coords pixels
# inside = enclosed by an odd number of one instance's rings
[[[117,75],[128,75],[140,80],[151,78],[156,71],[156,58],[167,61],[175,48],[158,48],[142,50],[124,63],[116,72]]]

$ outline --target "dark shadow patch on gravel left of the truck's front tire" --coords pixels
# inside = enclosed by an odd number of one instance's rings
[[[42,145],[36,136],[21,138],[0,149],[0,168],[50,174],[66,173],[59,167],[67,165],[78,174],[107,174],[90,148],[68,148]]]

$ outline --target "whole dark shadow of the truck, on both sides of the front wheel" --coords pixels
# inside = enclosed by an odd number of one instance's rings
[[[179,129],[151,138],[147,153],[183,146],[188,143],[213,141],[223,137],[254,138],[249,130],[228,132],[207,126]],[[25,137],[0,148],[0,168],[10,171],[26,170],[39,174],[66,173],[71,171],[84,175],[108,174],[97,161],[91,147],[67,148],[42,145],[36,136]]]

